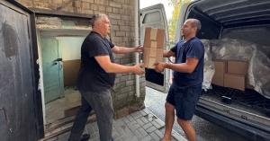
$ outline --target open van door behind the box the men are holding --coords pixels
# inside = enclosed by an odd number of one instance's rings
[[[139,11],[140,13],[140,43],[143,45],[145,28],[164,29],[166,31],[164,49],[169,49],[168,29],[166,22],[166,13],[163,4],[155,4]],[[166,58],[164,58],[166,61]],[[169,84],[169,71],[157,73],[154,69],[145,70],[147,86],[163,93],[167,92]]]

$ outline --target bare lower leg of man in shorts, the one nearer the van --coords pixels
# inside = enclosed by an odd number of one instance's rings
[[[196,141],[196,133],[190,120],[177,119],[178,124],[184,130],[184,134],[189,141]]]

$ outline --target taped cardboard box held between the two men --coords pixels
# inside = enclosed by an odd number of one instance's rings
[[[144,64],[154,68],[156,62],[163,60],[165,31],[163,29],[146,28],[144,36]]]

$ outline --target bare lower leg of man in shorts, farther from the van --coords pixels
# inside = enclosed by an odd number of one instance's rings
[[[165,110],[165,134],[162,141],[171,141],[171,133],[175,122],[175,106],[166,101]]]

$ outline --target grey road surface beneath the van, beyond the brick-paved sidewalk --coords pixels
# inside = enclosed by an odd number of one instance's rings
[[[154,89],[146,87],[145,106],[148,110],[154,113],[158,119],[165,121],[166,93],[160,93]],[[221,128],[205,119],[198,116],[193,116],[193,127],[197,134],[198,141],[248,141],[247,138],[241,137],[238,134],[231,132],[229,129]],[[176,123],[174,124],[175,131],[184,137],[184,131]]]

